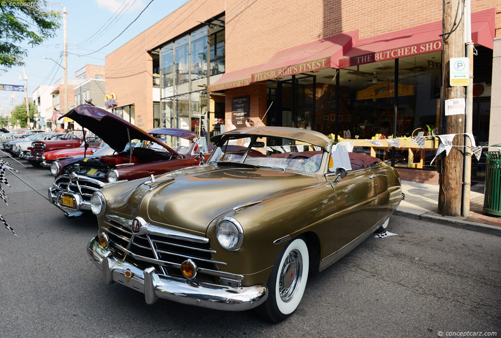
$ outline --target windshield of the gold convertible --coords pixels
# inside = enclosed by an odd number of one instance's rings
[[[316,172],[323,155],[321,147],[295,139],[251,136],[226,140],[214,149],[209,162]]]

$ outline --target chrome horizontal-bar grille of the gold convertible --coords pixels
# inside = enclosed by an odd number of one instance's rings
[[[143,268],[156,264],[164,274],[182,276],[179,267],[181,263],[191,258],[195,261],[198,271],[207,275],[225,276],[228,278],[242,279],[243,276],[218,271],[216,264],[226,265],[225,262],[212,259],[215,250],[210,248],[207,238],[205,242],[196,242],[188,239],[174,238],[173,232],[179,231],[165,229],[159,233],[159,228],[144,234],[133,234],[131,231],[132,219],[108,214],[105,223],[109,226],[104,230],[108,233],[111,246],[132,259],[135,264]],[[149,225],[151,226],[151,224]],[[186,233],[186,237],[190,234]],[[198,236],[193,236],[198,237]],[[138,262],[143,261],[145,263]]]

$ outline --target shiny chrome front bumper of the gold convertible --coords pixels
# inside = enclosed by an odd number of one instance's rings
[[[96,238],[92,238],[87,245],[87,253],[103,271],[106,284],[118,281],[143,292],[147,304],[153,304],[159,298],[163,298],[217,310],[243,311],[261,305],[268,297],[268,288],[265,285],[229,287],[160,277],[153,266],[141,270],[135,265],[115,258],[112,252],[103,248]],[[132,274],[129,278],[125,275],[127,270]]]

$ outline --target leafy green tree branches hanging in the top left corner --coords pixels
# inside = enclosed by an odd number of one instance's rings
[[[22,57],[28,55],[20,46],[28,43],[36,46],[56,34],[59,14],[45,10],[46,1],[0,3],[0,70],[22,65]]]

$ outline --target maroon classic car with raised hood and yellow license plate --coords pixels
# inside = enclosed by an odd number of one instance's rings
[[[49,188],[49,198],[69,211],[90,210],[92,194],[107,182],[197,165],[209,155],[205,138],[189,130],[155,128],[146,132],[117,115],[85,104],[64,116],[89,129],[115,150],[113,154],[53,162],[51,172],[56,179]],[[128,147],[129,144],[133,146]]]

